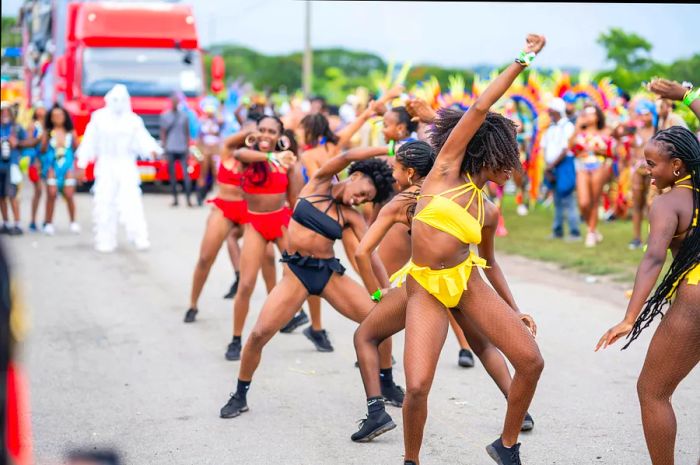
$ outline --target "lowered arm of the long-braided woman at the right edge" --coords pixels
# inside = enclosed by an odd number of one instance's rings
[[[657,197],[649,210],[651,228],[647,240],[647,250],[639,263],[637,275],[634,278],[634,289],[629,304],[627,304],[625,317],[600,338],[595,348],[596,351],[601,347],[605,349],[614,344],[632,330],[634,322],[637,321],[637,317],[644,308],[644,303],[649,298],[651,291],[654,290],[666,262],[668,246],[678,228],[678,217],[665,200],[667,199]]]

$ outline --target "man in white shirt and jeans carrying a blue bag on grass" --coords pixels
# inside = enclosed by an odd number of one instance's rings
[[[564,216],[569,221],[569,239],[579,240],[580,216],[576,207],[576,173],[573,155],[569,150],[569,139],[574,133],[574,125],[566,117],[566,103],[554,98],[548,106],[552,124],[542,136],[544,161],[547,164],[545,177],[554,188],[554,224],[552,237],[564,238]]]

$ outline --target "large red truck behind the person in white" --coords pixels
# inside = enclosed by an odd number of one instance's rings
[[[43,14],[51,15],[42,30],[42,10],[36,8],[36,0],[28,3],[34,5],[23,12],[22,23],[30,99],[61,102],[78,136],[90,114],[104,106],[103,97],[115,84],[126,85],[133,111],[156,139],[160,138],[159,115],[168,108],[174,91],[181,91],[187,106],[199,111],[205,78],[190,6],[40,0],[45,5]],[[32,53],[38,57],[34,66],[29,59]],[[169,179],[163,159],[142,154],[138,165],[143,181]],[[190,157],[187,171],[192,179],[199,176],[195,157]],[[178,164],[177,179],[182,180],[182,175]],[[86,176],[92,180],[92,166]]]

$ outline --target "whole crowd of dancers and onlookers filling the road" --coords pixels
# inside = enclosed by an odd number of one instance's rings
[[[248,412],[263,348],[279,332],[292,332],[310,321],[304,335],[318,351],[333,350],[323,329],[323,299],[358,323],[354,345],[367,417],[352,434],[353,441],[368,442],[394,429],[396,423],[385,405],[402,407],[404,463],[419,463],[427,399],[451,326],[460,344],[459,364],[473,366],[476,355],[506,399],[503,429],[486,446],[487,453],[498,464],[519,464],[518,437],[534,428],[528,408],[544,360],[535,340],[535,321],[521,312],[496,259],[495,237],[505,229],[498,200],[511,179],[522,199],[518,211],[527,214],[524,165],[531,162],[527,153],[531,135],[528,124],[509,117],[507,108],[502,112],[492,108],[544,46],[544,37],[529,35],[514,63],[467,110],[436,110],[415,97],[392,106],[403,93],[396,87],[364,104],[349,102],[349,108],[330,108],[321,98],[312,99],[308,107],[283,111],[246,102],[235,112],[237,127],[227,133],[220,108],[209,100],[193,132],[181,99],[174,96],[171,108],[161,115],[162,147],[145,133],[143,123],[128,126],[132,113],[125,89],[115,87],[108,94],[106,108],[93,115],[77,150],[70,118],[61,107],[37,108],[32,125],[22,128],[3,105],[3,231],[21,233],[13,168],[21,150],[32,151],[31,167],[38,170],[30,176],[35,185],[30,227],[39,229],[36,209],[45,192],[46,220],[41,229],[47,234],[53,233],[59,193],[68,205],[71,230],[79,232],[73,203],[79,171],[89,160],[97,158],[100,163],[108,157],[101,163],[110,163],[109,169],[96,173],[94,214],[98,226],[105,228],[101,236],[97,228],[96,248],[111,251],[116,215],[123,212],[109,210],[113,203],[109,199],[125,190],[115,184],[120,178],[114,172],[135,165],[133,157],[109,158],[109,151],[117,150],[111,141],[121,140],[115,127],[141,134],[140,151],[165,153],[173,206],[179,205],[178,165],[187,204],[194,206],[187,157],[195,146],[201,166],[200,177],[194,180],[195,201],[211,205],[211,212],[194,264],[184,322],[196,330],[193,323],[206,318],[206,313],[200,315],[199,298],[226,244],[234,282],[226,295],[233,298],[233,309],[232,338],[224,353],[240,365],[233,393],[220,409],[222,418]],[[553,199],[552,237],[583,239],[587,247],[603,240],[597,226],[601,205],[618,217],[626,216],[629,206],[630,248],[642,244],[641,225],[648,210],[648,248],[625,318],[603,335],[596,350],[628,335],[629,345],[665,313],[638,382],[647,446],[657,465],[673,463],[670,397],[700,360],[700,347],[693,344],[700,339],[700,142],[673,113],[676,102],[682,102],[700,116],[700,100],[697,90],[663,79],[653,81],[649,90],[660,100],[633,102],[627,119],[610,118],[593,102],[577,108],[567,96],[549,99],[550,125],[541,140],[542,197]],[[129,150],[136,152],[124,148]],[[122,184],[133,187],[131,180],[137,175],[130,170]],[[631,199],[614,188],[626,178]],[[145,225],[138,226],[143,222],[140,194],[131,191],[120,205],[123,210],[124,202],[132,202],[128,205],[138,218],[127,232],[145,248]],[[14,224],[7,221],[8,198]],[[336,257],[338,241],[347,264]],[[283,264],[279,279],[275,248]],[[655,289],[668,249],[673,263]],[[361,282],[345,273],[346,266]],[[244,341],[260,271],[268,296]],[[308,315],[301,310],[304,302]],[[392,368],[391,336],[401,330],[405,330],[405,390],[395,383]],[[506,360],[514,369],[512,376]]]

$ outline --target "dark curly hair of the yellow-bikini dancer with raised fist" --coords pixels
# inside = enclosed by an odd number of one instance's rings
[[[437,153],[464,115],[464,111],[443,108],[430,130],[430,143]],[[484,168],[522,170],[515,123],[503,115],[488,112],[486,119],[467,144],[461,172],[476,174]]]

